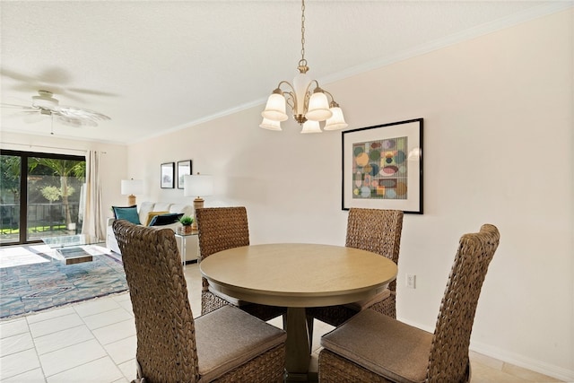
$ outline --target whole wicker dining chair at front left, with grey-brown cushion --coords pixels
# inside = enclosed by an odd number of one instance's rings
[[[174,232],[113,223],[135,317],[133,383],[283,381],[285,332],[227,306],[193,318]]]

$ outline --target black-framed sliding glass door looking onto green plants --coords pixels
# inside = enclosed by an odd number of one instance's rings
[[[84,157],[0,152],[0,245],[82,230]]]

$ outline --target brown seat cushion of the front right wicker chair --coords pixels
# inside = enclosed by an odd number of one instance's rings
[[[431,333],[370,309],[321,338],[327,350],[402,383],[426,379],[431,342]]]

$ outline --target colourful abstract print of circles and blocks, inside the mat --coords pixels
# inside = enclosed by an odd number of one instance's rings
[[[406,199],[408,137],[352,144],[352,197]]]

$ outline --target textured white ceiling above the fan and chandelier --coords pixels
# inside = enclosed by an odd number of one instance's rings
[[[309,74],[325,85],[567,6],[308,0]],[[263,104],[300,59],[299,1],[2,1],[0,13],[3,103],[41,89],[111,118],[55,123],[62,137],[129,143]],[[49,118],[0,112],[3,131],[50,133]]]

